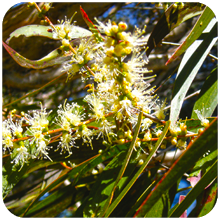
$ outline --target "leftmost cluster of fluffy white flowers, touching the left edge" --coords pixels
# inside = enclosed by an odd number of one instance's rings
[[[40,111],[33,111],[31,114],[25,114],[17,121],[13,121],[12,117],[3,121],[2,138],[3,151],[8,150],[11,153],[12,163],[20,164],[21,168],[30,158],[48,156],[49,136],[43,134],[48,130],[49,121],[46,109],[41,108]],[[23,132],[23,123],[29,127]],[[26,140],[25,137],[30,137]],[[20,141],[16,141],[20,139]],[[52,161],[52,160],[51,160]]]

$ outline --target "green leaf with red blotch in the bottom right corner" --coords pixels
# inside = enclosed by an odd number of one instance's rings
[[[202,207],[200,206],[200,212],[198,217],[202,217],[206,214],[208,214],[214,207],[217,199],[218,194],[218,183],[217,180],[215,180],[211,186],[209,186],[208,189],[206,189],[205,197],[202,202]]]

